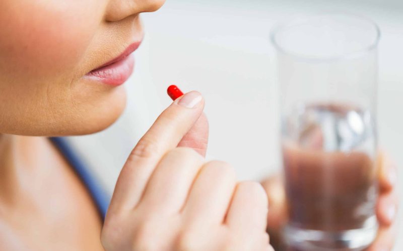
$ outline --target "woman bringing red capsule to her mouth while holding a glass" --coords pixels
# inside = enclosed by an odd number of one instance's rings
[[[0,2],[0,250],[273,250],[262,187],[202,157],[208,123],[198,92],[175,100],[133,149],[104,221],[96,186],[47,138],[95,133],[119,117],[143,37],[139,14],[163,2]],[[372,250],[394,239],[394,169],[381,170]],[[279,182],[264,186],[276,234],[284,197]]]

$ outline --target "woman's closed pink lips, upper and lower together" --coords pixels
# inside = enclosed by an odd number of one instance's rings
[[[113,86],[123,84],[133,72],[135,60],[132,53],[140,44],[141,41],[130,44],[119,56],[90,71],[85,77]]]

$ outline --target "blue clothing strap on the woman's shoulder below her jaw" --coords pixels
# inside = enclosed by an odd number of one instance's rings
[[[74,168],[74,171],[80,177],[81,181],[87,187],[88,192],[91,194],[91,197],[98,208],[99,214],[101,215],[102,219],[104,219],[106,210],[109,206],[110,198],[102,189],[101,184],[90,173],[85,163],[80,160],[79,156],[73,151],[69,143],[64,138],[53,137],[50,138],[50,141],[64,156],[65,160]]]

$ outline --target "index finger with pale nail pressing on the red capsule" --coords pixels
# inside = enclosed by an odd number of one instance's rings
[[[154,122],[130,153],[116,182],[110,209],[133,208],[160,159],[175,148],[200,117],[204,100],[191,91],[176,99]]]

